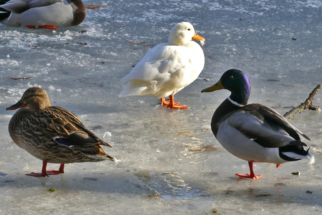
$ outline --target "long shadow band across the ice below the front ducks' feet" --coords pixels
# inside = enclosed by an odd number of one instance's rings
[[[81,168],[83,170],[83,168]],[[84,171],[84,170],[83,170]],[[210,175],[209,175],[210,174]],[[43,193],[53,187],[56,195],[66,192],[105,192],[141,194],[147,198],[161,198],[176,201],[207,201],[215,203],[224,199],[247,202],[265,201],[267,204],[299,203],[303,205],[322,205],[321,188],[317,185],[298,185],[289,178],[275,182],[259,182],[228,177],[226,182],[213,179],[217,173],[202,174],[200,180],[187,182],[181,172],[154,172],[122,168],[109,172],[83,172],[44,178],[28,177],[24,174],[1,174],[0,187],[17,189],[43,188]],[[204,181],[204,177],[212,184]],[[217,182],[216,182],[217,181]],[[227,181],[230,181],[227,183]],[[238,183],[236,183],[238,182]],[[36,191],[37,190],[37,191]],[[39,192],[35,189],[34,192]]]

